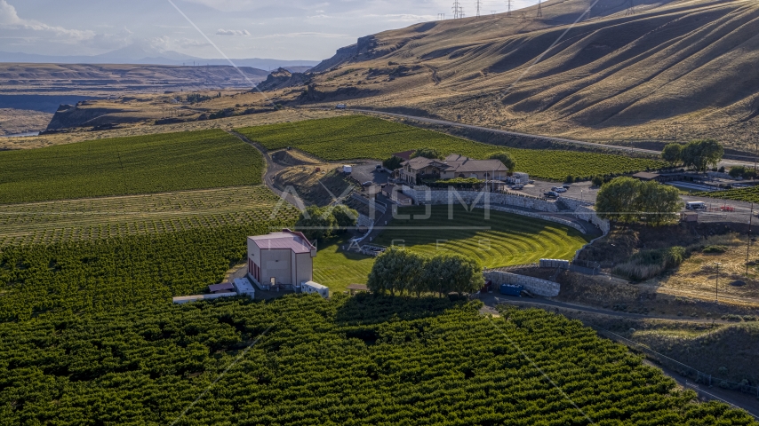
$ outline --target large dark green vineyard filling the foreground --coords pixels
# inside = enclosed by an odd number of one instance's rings
[[[479,306],[285,296],[0,324],[0,423],[757,424],[579,321]]]

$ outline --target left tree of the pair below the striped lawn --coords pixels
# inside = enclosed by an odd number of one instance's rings
[[[396,291],[399,294],[403,294],[403,290],[414,291],[413,286],[420,281],[424,265],[425,257],[419,253],[398,247],[387,248],[374,261],[366,286],[373,293],[389,292],[393,296]]]

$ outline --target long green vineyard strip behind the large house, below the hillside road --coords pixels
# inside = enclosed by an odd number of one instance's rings
[[[656,170],[665,165],[664,162],[621,155],[493,146],[363,115],[270,124],[237,131],[269,150],[293,146],[327,161],[384,160],[391,154],[422,147],[477,159],[507,151],[514,158],[518,171],[556,181],[563,181],[567,176],[587,179],[594,175]]]

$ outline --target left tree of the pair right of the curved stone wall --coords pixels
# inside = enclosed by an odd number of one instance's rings
[[[637,220],[638,196],[640,180],[633,177],[615,177],[604,184],[595,197],[595,211],[601,217],[619,222],[634,222]]]

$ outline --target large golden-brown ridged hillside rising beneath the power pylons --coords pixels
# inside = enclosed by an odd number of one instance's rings
[[[600,0],[567,25],[590,3],[363,37],[315,68],[312,91],[324,103],[571,138],[753,138],[759,4],[636,1],[627,14],[627,2]]]

